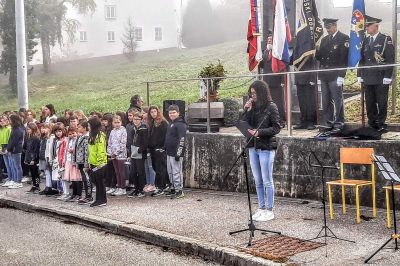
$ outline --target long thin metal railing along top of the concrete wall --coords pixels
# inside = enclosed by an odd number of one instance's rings
[[[357,67],[342,67],[342,68],[329,68],[329,69],[314,69],[314,70],[304,70],[304,71],[286,71],[286,72],[279,72],[279,73],[266,73],[266,74],[251,74],[251,75],[237,75],[237,76],[226,76],[226,77],[210,77],[210,78],[187,78],[187,79],[166,79],[166,80],[152,80],[152,81],[146,81],[143,84],[146,84],[146,96],[147,96],[147,104],[150,105],[150,87],[152,84],[157,84],[157,83],[171,83],[171,82],[189,82],[189,81],[204,81],[206,83],[207,87],[207,132],[211,132],[211,110],[210,110],[210,85],[211,84],[211,90],[213,90],[213,80],[214,79],[243,79],[243,78],[252,78],[252,79],[262,79],[263,77],[266,76],[276,76],[276,75],[286,75],[287,76],[287,84],[286,84],[286,106],[287,110],[287,130],[288,130],[288,135],[292,136],[292,98],[291,98],[291,88],[292,88],[292,76],[296,74],[304,74],[304,73],[321,73],[321,72],[331,72],[331,71],[343,71],[343,70],[359,70],[359,69],[380,69],[380,68],[388,68],[388,67],[393,67],[393,82],[392,82],[392,89],[393,89],[393,96],[396,96],[396,88],[397,84],[396,82],[396,75],[397,75],[397,67],[399,67],[400,64],[387,64],[387,65],[374,65],[374,66],[357,66]],[[363,93],[363,92],[362,92]],[[364,103],[363,99],[364,97],[362,96],[362,111],[364,109]],[[392,97],[392,104],[394,108],[392,108],[392,111],[394,112],[395,106],[396,106],[396,97]]]

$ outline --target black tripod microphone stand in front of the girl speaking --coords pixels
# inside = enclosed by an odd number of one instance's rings
[[[260,129],[261,125],[264,123],[266,118],[267,118],[267,115],[264,115],[263,120],[257,126],[256,132],[258,132],[258,130]],[[254,232],[255,231],[260,231],[260,232],[264,232],[264,233],[273,233],[273,234],[278,234],[278,235],[281,234],[281,232],[270,231],[270,230],[265,230],[265,229],[259,229],[254,225],[254,222],[253,222],[252,210],[251,210],[251,199],[250,199],[249,175],[247,173],[247,154],[246,154],[246,149],[248,148],[248,145],[253,141],[253,139],[254,139],[254,136],[251,136],[249,138],[249,140],[247,141],[246,145],[243,147],[242,151],[240,152],[240,154],[236,158],[235,162],[232,164],[231,168],[229,169],[229,171],[226,173],[226,175],[224,177],[224,179],[228,178],[228,176],[231,173],[232,169],[239,162],[239,159],[242,158],[244,175],[246,177],[247,202],[248,202],[248,205],[249,205],[249,216],[250,216],[250,219],[249,219],[249,223],[247,225],[248,226],[247,228],[241,229],[241,230],[237,230],[237,231],[231,231],[231,232],[229,232],[229,235],[234,235],[234,234],[238,234],[238,233],[249,231],[250,232],[250,236],[249,236],[249,242],[247,244],[247,247],[251,247],[252,239],[254,237]]]

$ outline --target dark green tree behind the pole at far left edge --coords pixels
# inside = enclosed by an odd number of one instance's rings
[[[37,13],[34,0],[25,1],[25,35],[27,61],[32,60],[36,53],[34,50],[38,36]],[[8,76],[9,86],[12,91],[17,91],[17,56],[16,56],[16,32],[15,32],[15,1],[0,0],[0,39],[3,51],[0,58],[0,73]]]

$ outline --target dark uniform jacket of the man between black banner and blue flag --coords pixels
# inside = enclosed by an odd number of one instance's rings
[[[327,35],[321,40],[321,45],[315,55],[320,62],[320,69],[347,67],[349,54],[349,36],[338,31],[332,39]],[[334,81],[338,77],[344,78],[346,70],[320,72],[318,77],[323,81]]]

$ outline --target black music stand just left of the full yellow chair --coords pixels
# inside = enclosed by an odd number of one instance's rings
[[[328,155],[329,153],[324,152],[324,155]],[[314,157],[315,161],[317,162],[316,164],[312,164],[311,163],[311,156]],[[326,187],[325,187],[325,170],[326,169],[335,169],[335,170],[339,170],[340,167],[336,166],[336,165],[324,165],[323,162],[318,158],[318,156],[315,154],[315,151],[310,150],[310,155],[309,155],[309,161],[308,161],[309,165],[311,167],[315,167],[315,168],[320,168],[321,169],[321,182],[322,182],[322,205],[324,208],[324,219],[323,219],[323,226],[321,228],[321,231],[319,231],[318,235],[314,238],[308,239],[306,241],[311,241],[311,240],[315,240],[315,239],[319,239],[319,238],[324,238],[325,239],[325,245],[326,245],[326,238],[330,237],[330,238],[334,238],[337,240],[341,240],[341,241],[346,241],[346,242],[351,242],[351,243],[355,243],[354,241],[351,240],[347,240],[347,239],[343,239],[343,238],[339,238],[337,237],[332,230],[327,226],[327,219],[326,219]],[[329,235],[328,231],[332,234]]]

